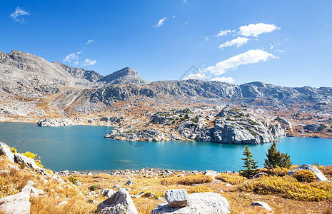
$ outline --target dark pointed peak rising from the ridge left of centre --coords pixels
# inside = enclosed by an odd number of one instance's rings
[[[111,84],[124,84],[124,83],[133,83],[136,85],[144,85],[149,83],[139,76],[139,72],[133,68],[122,68],[119,71],[115,71],[104,78],[99,79],[101,82],[111,83]]]

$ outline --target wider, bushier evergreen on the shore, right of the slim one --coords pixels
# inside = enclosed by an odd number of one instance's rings
[[[268,153],[266,154],[267,159],[265,159],[264,166],[265,168],[290,168],[291,157],[288,154],[281,153],[276,149],[276,142],[273,141],[271,147],[268,149]]]

